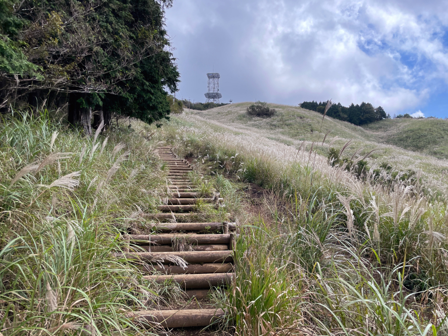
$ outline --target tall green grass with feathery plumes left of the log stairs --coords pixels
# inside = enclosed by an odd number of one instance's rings
[[[141,333],[124,312],[147,309],[157,297],[148,302],[148,284],[111,252],[121,249],[131,214],[159,202],[157,141],[127,129],[97,132],[92,141],[46,111],[3,117],[2,335]]]

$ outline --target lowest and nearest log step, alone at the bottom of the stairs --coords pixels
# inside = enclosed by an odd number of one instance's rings
[[[127,314],[145,328],[208,327],[224,318],[222,309],[147,310]]]

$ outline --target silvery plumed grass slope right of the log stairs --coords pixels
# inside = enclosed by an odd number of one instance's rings
[[[256,118],[247,105],[186,111],[164,126],[212,175],[265,188],[236,219],[236,335],[447,335],[448,161],[337,120],[319,133],[316,112],[272,105],[276,116]],[[394,169],[377,179],[331,166],[329,148],[351,139],[344,155],[377,148],[368,164]]]

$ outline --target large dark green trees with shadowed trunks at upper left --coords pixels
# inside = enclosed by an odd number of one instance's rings
[[[172,0],[0,0],[0,112],[66,107],[87,134],[112,113],[168,118],[180,74]],[[93,111],[98,111],[94,113]]]

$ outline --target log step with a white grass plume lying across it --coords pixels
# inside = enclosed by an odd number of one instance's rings
[[[188,252],[124,252],[113,253],[117,258],[142,260],[146,262],[172,263],[174,258],[182,258],[188,263],[233,262],[233,251],[188,251]]]

